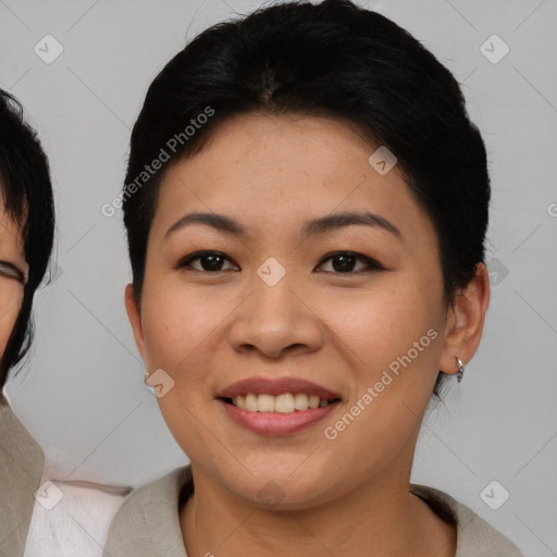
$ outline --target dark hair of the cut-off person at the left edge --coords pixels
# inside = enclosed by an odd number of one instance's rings
[[[27,354],[33,339],[33,297],[52,251],[54,202],[47,157],[21,103],[0,89],[0,194],[7,216],[21,226],[29,265],[22,306],[0,360],[0,391],[9,371]]]

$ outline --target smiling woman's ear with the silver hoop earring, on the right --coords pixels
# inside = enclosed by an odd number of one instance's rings
[[[490,276],[486,267],[478,263],[474,277],[457,293],[448,310],[440,370],[454,374],[458,371],[456,358],[465,364],[472,359],[480,345],[488,304]]]

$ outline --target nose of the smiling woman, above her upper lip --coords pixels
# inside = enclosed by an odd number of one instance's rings
[[[235,350],[276,359],[286,354],[311,352],[322,345],[323,326],[314,308],[287,276],[274,286],[255,276],[253,292],[238,308],[228,330]]]

